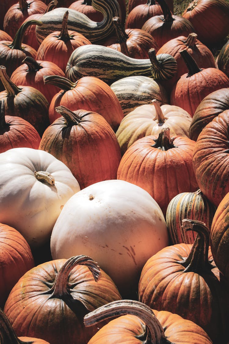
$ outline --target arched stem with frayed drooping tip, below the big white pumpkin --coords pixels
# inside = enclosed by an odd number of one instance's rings
[[[77,265],[87,266],[96,282],[101,278],[100,268],[91,257],[84,255],[71,257],[66,260],[65,264],[58,271],[54,284],[48,292],[51,293],[50,298],[61,298],[68,295],[68,290],[73,288],[73,284],[68,282],[69,274]]]

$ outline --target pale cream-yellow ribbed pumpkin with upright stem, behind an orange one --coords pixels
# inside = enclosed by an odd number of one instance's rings
[[[152,104],[136,107],[124,117],[116,131],[122,155],[138,139],[157,136],[165,127],[170,128],[171,135],[188,137],[191,120],[185,110],[167,104],[160,107],[156,99],[152,100]]]

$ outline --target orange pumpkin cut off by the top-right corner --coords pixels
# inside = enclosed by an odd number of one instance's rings
[[[182,16],[194,26],[198,39],[213,46],[229,32],[229,4],[224,0],[194,0]]]

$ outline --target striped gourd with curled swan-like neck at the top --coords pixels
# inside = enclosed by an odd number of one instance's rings
[[[92,7],[103,14],[101,22],[95,22],[87,17],[87,15],[68,9],[68,30],[77,31],[85,36],[90,42],[99,42],[110,36],[114,31],[113,17],[121,18],[121,10],[116,0],[92,0]],[[66,8],[56,8],[42,15],[39,20],[42,26],[36,27],[36,37],[39,43],[44,38],[55,31],[61,31],[62,20],[66,12]]]

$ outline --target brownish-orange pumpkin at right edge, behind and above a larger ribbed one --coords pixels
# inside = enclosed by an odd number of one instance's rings
[[[229,109],[229,88],[220,88],[198,105],[189,128],[189,138],[196,141],[203,128],[221,112]]]

